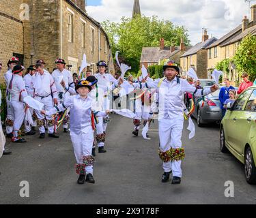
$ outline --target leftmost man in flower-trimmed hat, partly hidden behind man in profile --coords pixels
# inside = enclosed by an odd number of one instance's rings
[[[12,108],[10,106],[10,92],[9,92],[9,83],[12,79],[12,69],[14,69],[14,66],[16,66],[20,61],[17,57],[12,57],[8,61],[8,72],[6,72],[3,76],[5,78],[5,85],[6,85],[6,105],[7,105],[7,117],[5,120],[5,126],[6,126],[6,137],[12,138],[12,131],[13,131],[13,125],[14,125],[14,112],[12,111]]]

